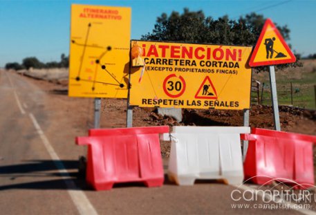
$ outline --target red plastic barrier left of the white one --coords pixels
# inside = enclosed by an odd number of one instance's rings
[[[91,129],[89,137],[76,138],[77,144],[88,145],[87,183],[96,190],[138,181],[162,186],[159,133],[169,133],[169,127]]]

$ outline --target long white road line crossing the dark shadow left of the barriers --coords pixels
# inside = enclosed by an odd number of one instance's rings
[[[71,199],[73,200],[73,203],[77,207],[77,210],[80,214],[97,214],[95,211],[95,208],[93,205],[91,205],[89,199],[86,197],[84,192],[75,185],[73,180],[71,180],[71,176],[68,174],[68,171],[64,167],[64,164],[57,156],[57,153],[51,146],[50,142],[46,138],[46,135],[41,130],[41,127],[39,127],[39,124],[37,123],[37,120],[35,119],[34,115],[32,113],[29,113],[30,119],[32,120],[34,127],[39,134],[39,137],[44,143],[44,146],[46,147],[46,150],[48,151],[50,158],[52,158],[53,162],[55,163],[55,166],[58,168],[59,173],[61,173],[64,179],[64,182],[66,183],[66,186],[68,188],[68,194],[71,196]]]

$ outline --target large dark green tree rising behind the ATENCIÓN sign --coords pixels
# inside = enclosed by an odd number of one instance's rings
[[[224,16],[219,19],[205,17],[204,12],[189,11],[185,8],[183,14],[171,12],[162,13],[157,18],[154,30],[142,39],[151,41],[180,41],[189,43],[225,44],[238,46],[255,46],[266,19],[262,15],[251,13],[238,20]],[[284,39],[290,39],[288,26],[276,25]],[[299,58],[299,57],[297,57]],[[279,66],[301,66],[299,62]],[[258,68],[259,71],[264,67]]]

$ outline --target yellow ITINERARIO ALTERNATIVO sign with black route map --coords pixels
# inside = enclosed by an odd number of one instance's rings
[[[127,97],[131,8],[71,6],[68,95]]]

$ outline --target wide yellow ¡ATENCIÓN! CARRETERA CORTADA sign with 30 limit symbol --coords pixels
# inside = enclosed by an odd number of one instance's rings
[[[141,63],[131,68],[131,105],[250,108],[252,47],[158,41],[131,41],[131,46],[136,50],[131,60]]]

